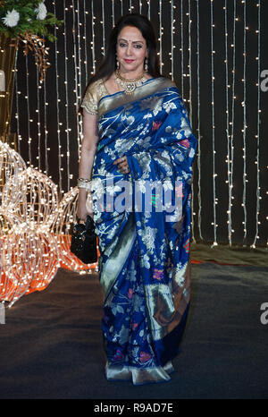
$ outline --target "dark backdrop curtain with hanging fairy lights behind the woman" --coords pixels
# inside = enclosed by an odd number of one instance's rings
[[[267,2],[63,0],[46,7],[64,20],[52,29],[46,81],[40,84],[32,56],[20,50],[16,59],[12,129],[28,165],[51,176],[61,197],[76,186],[80,98],[113,23],[130,10],[146,14],[162,73],[180,89],[198,140],[194,241],[265,246]]]

